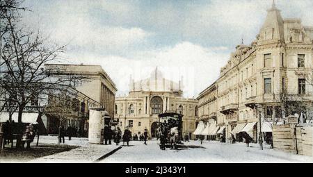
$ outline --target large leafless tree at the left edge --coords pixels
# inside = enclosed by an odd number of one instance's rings
[[[17,29],[10,17],[7,17],[7,21],[9,31],[3,35],[1,65],[4,67],[1,67],[0,87],[6,94],[16,95],[18,123],[22,124],[23,110],[31,99],[40,94],[49,94],[51,90],[62,90],[78,77],[52,77],[51,73],[59,71],[45,67],[45,64],[57,61],[65,47],[48,45],[47,39],[41,37],[39,31],[34,33],[24,28]]]

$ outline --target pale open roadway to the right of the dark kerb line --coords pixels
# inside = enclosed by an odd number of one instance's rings
[[[101,162],[104,163],[239,163],[239,162],[313,162],[312,157],[294,155],[269,149],[259,149],[259,144],[225,144],[220,142],[199,141],[184,142],[186,148],[179,150],[159,149],[157,140],[147,142],[130,142],[131,146],[122,146],[122,149],[113,153]]]

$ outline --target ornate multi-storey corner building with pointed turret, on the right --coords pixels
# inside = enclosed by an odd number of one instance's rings
[[[275,3],[267,12],[252,44],[238,45],[217,81],[198,97],[200,117],[215,111],[227,139],[244,130],[257,142],[266,121],[312,112],[313,27],[283,19]],[[295,101],[305,102],[304,108],[287,110],[286,103]]]

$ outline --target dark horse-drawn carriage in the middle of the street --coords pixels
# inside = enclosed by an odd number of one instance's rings
[[[177,149],[177,144],[182,144],[182,117],[174,112],[159,115],[160,149]]]

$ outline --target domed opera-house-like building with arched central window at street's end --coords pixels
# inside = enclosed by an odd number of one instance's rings
[[[131,79],[129,90],[128,96],[115,99],[115,119],[122,131],[129,127],[133,135],[139,135],[147,129],[149,137],[157,137],[158,115],[177,112],[184,115],[183,135],[192,135],[198,101],[182,97],[182,81],[169,81],[155,69],[150,78],[137,82]]]

